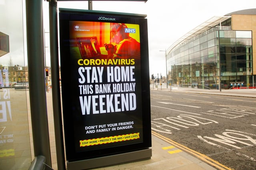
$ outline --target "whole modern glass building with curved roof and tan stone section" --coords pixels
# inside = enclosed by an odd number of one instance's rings
[[[168,80],[181,87],[252,88],[256,80],[253,56],[256,9],[215,16],[168,48]]]

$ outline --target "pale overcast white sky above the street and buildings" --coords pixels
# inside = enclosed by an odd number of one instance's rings
[[[4,3],[17,4],[17,7],[20,8],[20,4],[16,2],[20,2],[20,0],[0,0],[0,5]],[[24,2],[25,0],[23,0],[23,4],[25,4]],[[48,38],[49,2],[47,2],[46,0],[42,0],[42,3],[45,29],[44,34],[46,37],[46,66],[50,66],[50,43]],[[88,10],[88,1],[58,1],[57,6],[58,8]],[[12,9],[13,8],[14,6],[12,5]],[[162,74],[162,76],[166,76],[166,60],[164,51],[167,50],[180,37],[214,16],[224,16],[231,12],[251,8],[256,8],[256,0],[148,0],[146,3],[136,1],[92,2],[92,10],[147,15],[146,19],[148,21],[150,77],[151,74],[154,74],[154,76],[156,76],[157,74]],[[7,10],[8,9],[6,8],[6,11]],[[0,16],[1,15],[4,15],[3,10],[2,13],[0,12]],[[23,16],[25,17],[25,12]],[[20,17],[17,18],[17,20],[20,20]],[[12,24],[10,23],[16,23],[15,18],[11,18],[11,20],[9,21],[4,20],[3,22],[9,23],[7,25],[10,25],[10,27],[12,27]],[[4,30],[9,33],[11,29],[2,28],[3,25],[0,25],[0,31]],[[24,48],[26,48],[26,44],[24,45]],[[7,56],[10,55],[12,57],[13,64],[21,63],[20,65],[23,65],[22,62],[17,58],[18,55],[14,55],[12,53]],[[1,57],[0,63],[8,64],[6,61],[4,61],[4,59],[7,61],[10,60],[8,59],[8,57]],[[26,65],[26,63],[27,62],[25,61],[24,64]]]

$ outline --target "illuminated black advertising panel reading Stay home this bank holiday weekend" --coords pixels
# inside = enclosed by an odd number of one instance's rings
[[[147,20],[60,9],[67,160],[151,147]]]

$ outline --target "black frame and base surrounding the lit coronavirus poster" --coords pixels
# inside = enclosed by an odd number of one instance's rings
[[[59,9],[59,21],[60,21],[60,63],[61,63],[61,83],[62,83],[62,107],[63,107],[63,119],[64,119],[64,134],[66,144],[66,158],[68,166],[74,168],[77,166],[77,162],[81,161],[82,167],[86,162],[90,168],[97,166],[105,166],[99,164],[99,159],[108,160],[110,164],[120,163],[123,161],[139,160],[144,158],[150,158],[152,156],[151,147],[151,118],[150,118],[150,86],[149,86],[149,61],[148,61],[148,33],[147,33],[147,19],[146,15],[143,14],[128,14],[118,12],[106,12],[106,11],[92,11],[92,10],[76,10],[76,9]],[[100,149],[92,149],[85,151],[76,151],[72,143],[74,143],[74,132],[72,124],[69,123],[71,117],[65,117],[65,111],[68,107],[68,101],[70,101],[69,91],[69,80],[67,77],[72,76],[69,67],[70,52],[67,50],[67,46],[70,45],[69,35],[67,35],[68,24],[70,21],[95,21],[90,19],[90,16],[112,16],[116,17],[115,22],[128,22],[136,23],[140,25],[140,49],[141,49],[141,63],[140,63],[140,81],[143,82],[141,85],[140,93],[138,94],[141,98],[142,107],[142,139],[139,143],[131,143],[127,145],[106,147]],[[142,62],[143,60],[143,62]],[[142,83],[141,83],[142,84]],[[71,99],[72,100],[72,99]],[[133,156],[131,156],[131,154]],[[88,156],[91,155],[91,156]],[[128,159],[122,158],[127,157]],[[122,159],[118,159],[122,158]],[[96,162],[94,161],[96,160]],[[112,160],[112,161],[110,161]],[[114,162],[113,162],[114,161]],[[90,163],[89,163],[90,162]],[[104,162],[104,161],[100,161]],[[112,163],[111,163],[112,162]],[[75,164],[75,166],[74,166]]]

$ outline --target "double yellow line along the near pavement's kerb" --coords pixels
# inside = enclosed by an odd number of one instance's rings
[[[160,135],[160,134],[158,134],[154,131],[151,131],[151,133],[152,133],[152,135],[162,139],[163,141],[166,141],[167,143],[170,143],[171,145],[183,150],[184,152],[187,152],[187,153],[190,153],[190,154],[196,156],[200,160],[206,162],[207,164],[209,164],[209,165],[211,165],[215,168],[218,168],[219,170],[232,170],[231,168],[228,168],[227,166],[220,164],[218,161],[213,160],[212,158],[210,158],[210,157],[208,157],[204,154],[201,154],[199,152],[196,152],[195,150],[192,150],[188,147],[185,147],[184,145],[181,145],[181,144],[179,144],[175,141],[172,141],[171,139],[169,139],[167,137],[164,137],[164,136],[162,136],[162,135]]]

